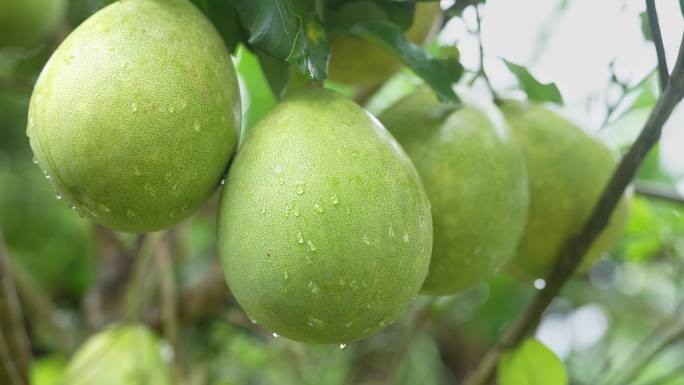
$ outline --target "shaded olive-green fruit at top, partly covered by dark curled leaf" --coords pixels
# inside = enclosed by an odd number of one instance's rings
[[[415,44],[423,44],[439,14],[439,2],[417,3],[413,24],[406,31],[406,37]],[[337,36],[331,49],[329,78],[338,83],[371,87],[401,67],[401,62],[390,52],[357,36]]]

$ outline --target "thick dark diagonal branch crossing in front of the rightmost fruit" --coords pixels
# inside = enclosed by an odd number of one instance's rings
[[[684,44],[681,44],[677,63],[667,88],[651,111],[651,115],[639,137],[618,164],[583,230],[567,240],[556,259],[554,268],[546,277],[546,287],[537,294],[522,315],[506,330],[499,343],[485,354],[479,366],[463,381],[463,384],[485,384],[493,376],[501,352],[506,348],[518,345],[536,328],[546,308],[560,293],[561,288],[579,266],[582,257],[589,250],[594,239],[608,223],[610,214],[625,188],[634,178],[637,168],[648,152],[658,142],[663,125],[683,95]]]

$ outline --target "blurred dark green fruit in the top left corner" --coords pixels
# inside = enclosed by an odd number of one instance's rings
[[[0,47],[30,48],[64,19],[66,0],[0,1]]]

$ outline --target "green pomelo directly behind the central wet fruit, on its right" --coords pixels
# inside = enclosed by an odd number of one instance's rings
[[[380,120],[418,169],[430,202],[434,244],[422,292],[446,295],[491,278],[513,256],[528,209],[525,164],[493,105],[454,108],[428,88]]]

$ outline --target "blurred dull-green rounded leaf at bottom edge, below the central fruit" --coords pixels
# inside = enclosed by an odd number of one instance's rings
[[[397,369],[397,385],[445,384],[439,347],[428,333],[414,337]]]

